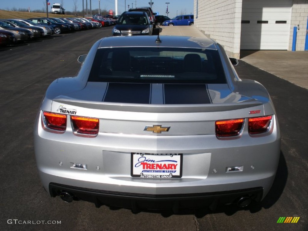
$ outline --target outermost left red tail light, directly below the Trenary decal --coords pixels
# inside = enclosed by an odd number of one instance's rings
[[[47,128],[57,130],[57,131],[65,131],[66,130],[66,115],[51,113],[51,112],[43,112],[44,115],[44,125]]]

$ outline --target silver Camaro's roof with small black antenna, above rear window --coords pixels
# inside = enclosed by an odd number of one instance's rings
[[[216,43],[206,37],[168,35],[105,37],[101,39],[98,48],[136,47],[136,44],[138,44],[138,47],[187,47],[217,50]]]

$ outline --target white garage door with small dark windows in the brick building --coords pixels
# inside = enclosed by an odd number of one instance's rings
[[[288,50],[291,0],[243,0],[242,50]]]

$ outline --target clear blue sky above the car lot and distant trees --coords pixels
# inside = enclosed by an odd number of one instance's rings
[[[11,10],[12,8],[28,9],[30,10],[42,10],[44,8],[45,0],[1,0],[0,9],[1,10]],[[63,7],[66,10],[73,11],[73,6],[75,0],[63,0]],[[77,10],[82,10],[82,2],[84,1],[84,9],[86,9],[86,1],[88,1],[88,12],[90,11],[90,0],[77,0]],[[50,4],[61,3],[61,0],[49,0]],[[128,5],[131,8],[135,6],[149,6],[149,0],[118,0],[118,13],[123,13],[125,11],[124,6],[126,4],[126,10]],[[168,17],[173,18],[176,13],[180,15],[183,14],[193,14],[193,0],[152,0],[152,10],[153,12],[158,12],[160,15],[167,15],[167,4],[168,4]],[[98,9],[99,0],[91,0],[91,8]],[[50,6],[48,8],[51,9]],[[115,0],[100,0],[101,10],[114,10],[115,11]]]

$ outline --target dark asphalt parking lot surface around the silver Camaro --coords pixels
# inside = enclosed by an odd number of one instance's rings
[[[99,38],[110,36],[111,29],[57,35],[0,49],[0,230],[308,230],[307,89],[250,65],[244,58],[235,67],[238,75],[267,88],[282,133],[278,172],[261,203],[245,209],[222,206],[215,211],[134,214],[129,209],[98,209],[86,201],[67,204],[48,196],[39,180],[33,150],[33,125],[40,102],[54,79],[77,73],[77,57],[87,54]],[[296,224],[278,224],[279,217],[300,219]]]

